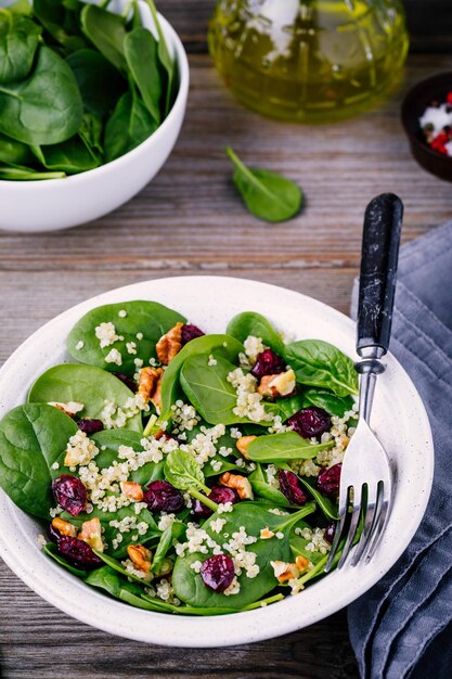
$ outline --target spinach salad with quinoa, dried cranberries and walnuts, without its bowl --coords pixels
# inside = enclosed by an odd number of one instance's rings
[[[284,333],[245,311],[210,334],[145,299],[86,312],[72,362],[0,422],[0,485],[46,555],[175,615],[264,607],[324,577],[358,377],[333,344]]]

